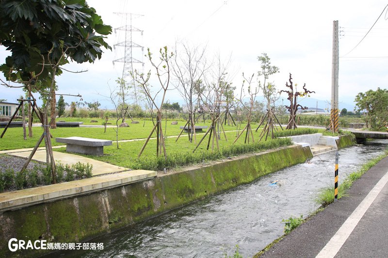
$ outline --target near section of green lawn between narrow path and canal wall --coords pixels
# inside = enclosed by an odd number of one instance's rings
[[[156,157],[156,139],[149,140],[140,159],[137,159],[137,156],[144,145],[145,140],[120,142],[119,149],[117,149],[115,144],[106,146],[104,147],[103,156],[88,155],[87,157],[127,168],[162,169],[163,166],[169,168],[176,167],[179,164],[188,165],[201,161],[226,158],[229,156],[227,153],[236,154],[237,152],[242,154],[257,152],[259,150],[267,150],[291,144],[291,141],[286,141],[285,139],[271,139],[267,142],[261,141],[259,143],[259,132],[260,131],[254,133],[254,137],[256,138],[255,144],[252,144],[252,141],[251,144],[249,144],[252,148],[251,150],[246,148],[247,144],[244,144],[244,137],[240,137],[237,142],[233,144],[233,141],[236,138],[236,132],[226,132],[227,140],[225,140],[223,133],[221,133],[221,139],[219,139],[220,151],[216,150],[216,140],[214,140],[214,151],[211,151],[212,141],[210,141],[209,151],[206,150],[209,139],[208,136],[204,139],[195,153],[193,153],[193,150],[196,144],[194,142],[190,143],[187,136],[180,137],[177,142],[177,137],[166,138],[167,161],[164,160],[163,154],[159,158]],[[197,143],[199,143],[199,140],[202,137],[203,135],[198,135]],[[56,149],[55,151],[65,152],[65,148]]]

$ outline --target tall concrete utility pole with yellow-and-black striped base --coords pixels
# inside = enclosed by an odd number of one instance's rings
[[[338,42],[338,21],[333,21],[333,57],[331,67],[331,110],[330,129],[338,133],[338,73],[339,73],[339,42]]]

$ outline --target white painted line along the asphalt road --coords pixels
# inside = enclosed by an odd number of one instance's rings
[[[356,228],[358,222],[364,216],[364,213],[371,206],[374,199],[378,196],[381,190],[384,188],[388,182],[388,171],[380,179],[379,182],[373,187],[371,192],[365,197],[362,202],[358,205],[356,210],[349,216],[349,218],[342,224],[338,229],[337,233],[330,239],[330,241],[323,247],[321,252],[316,256],[316,258],[331,258],[334,257],[345,241],[348,239],[353,229]]]

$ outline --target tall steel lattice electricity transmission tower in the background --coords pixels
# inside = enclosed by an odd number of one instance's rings
[[[123,75],[122,79],[125,80],[125,87],[130,90],[131,97],[134,98],[136,105],[138,104],[138,91],[136,89],[136,85],[134,83],[134,80],[131,73],[133,74],[133,64],[134,63],[141,63],[142,66],[144,66],[144,62],[137,60],[133,58],[133,48],[139,47],[142,49],[142,57],[143,57],[143,51],[144,47],[140,46],[139,44],[136,44],[132,41],[132,32],[140,32],[141,35],[143,35],[143,30],[139,30],[138,28],[135,28],[132,26],[132,19],[136,17],[140,17],[143,15],[137,15],[137,14],[130,14],[130,13],[114,13],[115,15],[124,16],[125,18],[125,25],[121,26],[119,28],[114,29],[114,33],[116,33],[116,30],[123,30],[124,31],[124,41],[119,42],[115,45],[113,45],[113,48],[116,49],[116,46],[123,46],[124,47],[124,57],[119,58],[114,62],[122,62],[124,63],[123,66]],[[123,105],[125,104],[125,89],[122,87],[120,89],[121,94],[123,95]]]

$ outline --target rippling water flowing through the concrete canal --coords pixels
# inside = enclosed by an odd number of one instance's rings
[[[388,140],[339,151],[339,180],[384,152]],[[319,189],[334,185],[335,152],[282,169],[259,180],[128,228],[93,239],[104,250],[71,252],[82,257],[224,257],[235,245],[252,257],[283,234],[291,215],[307,216],[318,206]],[[277,180],[276,184],[271,184]]]

